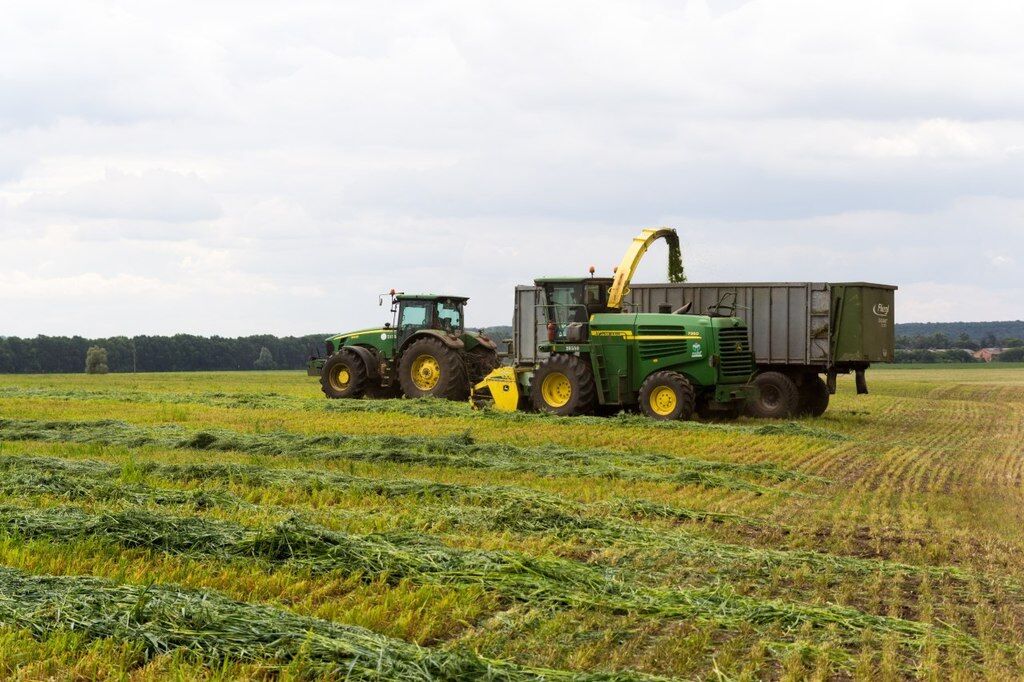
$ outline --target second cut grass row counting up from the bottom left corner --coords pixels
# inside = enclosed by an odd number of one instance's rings
[[[0,508],[0,525],[19,540],[98,540],[186,557],[258,560],[317,573],[359,576],[388,583],[409,580],[454,587],[482,586],[532,607],[586,608],[607,613],[714,622],[720,627],[781,629],[788,636],[817,633],[854,648],[865,633],[907,647],[937,641],[978,651],[963,632],[857,609],[809,605],[735,594],[725,586],[669,590],[627,583],[612,571],[553,557],[460,550],[410,534],[354,536],[290,520],[253,528],[196,516],[139,509],[91,513],[76,507]],[[780,642],[784,646],[786,642]]]

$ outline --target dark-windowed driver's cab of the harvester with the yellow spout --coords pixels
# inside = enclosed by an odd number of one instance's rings
[[[545,278],[534,284],[544,293],[543,321],[552,341],[586,340],[591,315],[617,312],[608,308],[611,278]]]

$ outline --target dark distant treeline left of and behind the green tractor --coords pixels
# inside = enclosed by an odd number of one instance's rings
[[[507,338],[511,328],[485,330],[495,340]],[[214,372],[252,370],[263,348],[272,367],[301,370],[310,353],[324,353],[330,334],[276,337],[268,334],[226,338],[221,336],[115,336],[86,339],[81,336],[37,336],[34,339],[0,338],[0,374],[49,374],[85,371],[91,346],[106,350],[111,372]]]

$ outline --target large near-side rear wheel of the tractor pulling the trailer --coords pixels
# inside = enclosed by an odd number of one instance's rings
[[[469,397],[466,365],[459,351],[430,336],[413,341],[402,352],[398,383],[409,397]]]

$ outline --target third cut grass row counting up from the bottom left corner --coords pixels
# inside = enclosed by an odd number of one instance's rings
[[[914,566],[892,561],[844,557],[811,551],[772,550],[730,545],[680,529],[645,527],[628,519],[607,516],[608,512],[658,517],[695,517],[701,512],[665,508],[635,501],[608,505],[583,505],[556,496],[513,486],[466,486],[415,479],[378,480],[348,474],[316,472],[304,469],[267,469],[238,464],[158,464],[131,462],[115,465],[95,461],[70,461],[60,458],[0,456],[0,492],[8,496],[48,495],[68,501],[126,502],[134,505],[185,506],[201,510],[257,509],[272,506],[252,502],[222,487],[237,484],[254,492],[268,485],[305,489],[330,488],[342,494],[395,499],[412,498],[418,503],[416,527],[443,525],[462,532],[496,530],[536,534],[542,537],[585,543],[590,547],[611,545],[633,552],[673,552],[714,563],[720,576],[766,577],[780,567],[806,566],[815,570],[844,574],[882,573],[931,576],[968,583],[979,580],[954,567]],[[128,480],[125,480],[127,478]],[[200,489],[167,489],[153,486],[167,480],[174,484],[201,484]],[[207,484],[215,482],[216,488]],[[265,497],[265,496],[264,496]],[[639,507],[638,507],[639,505]],[[284,508],[284,513],[300,510]],[[681,512],[685,512],[685,514]],[[318,514],[324,514],[321,511]],[[701,520],[709,520],[705,517]],[[711,520],[743,522],[742,517]]]

